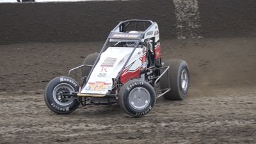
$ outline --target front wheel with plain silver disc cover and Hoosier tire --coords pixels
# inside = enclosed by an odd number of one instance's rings
[[[156,102],[156,92],[146,81],[134,79],[125,83],[118,93],[118,104],[129,115],[146,115]]]

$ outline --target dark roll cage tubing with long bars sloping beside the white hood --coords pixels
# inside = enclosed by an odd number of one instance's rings
[[[102,52],[106,51],[106,45],[108,44],[110,38],[111,38],[111,39],[120,39],[120,38],[114,38],[114,37],[113,37],[113,34],[123,34],[123,35],[124,35],[124,34],[128,34],[128,33],[124,33],[124,32],[116,32],[116,29],[120,28],[120,26],[124,26],[124,24],[126,24],[126,23],[127,23],[126,26],[128,26],[129,24],[131,24],[131,22],[136,22],[136,23],[137,23],[137,22],[149,22],[151,25],[150,25],[145,31],[140,32],[140,33],[136,33],[136,35],[138,35],[138,38],[129,38],[129,40],[135,40],[134,42],[136,42],[136,45],[135,45],[134,48],[132,49],[132,52],[131,52],[129,58],[125,61],[124,66],[122,67],[122,69],[120,70],[120,72],[118,72],[118,75],[116,76],[116,79],[118,79],[118,80],[120,81],[120,76],[121,76],[121,74],[122,74],[122,72],[123,72],[125,66],[127,65],[127,63],[129,62],[129,60],[131,59],[132,54],[134,53],[134,51],[136,50],[136,48],[138,48],[138,45],[140,44],[142,38],[145,36],[146,31],[148,31],[148,29],[152,28],[152,26],[154,26],[154,24],[156,24],[156,22],[152,22],[151,20],[138,20],[138,19],[131,19],[131,20],[125,20],[125,21],[120,22],[120,23],[110,32],[110,34],[109,34],[109,36],[108,36],[108,38],[107,38],[105,44],[103,45],[103,47],[102,47],[102,49],[101,49],[101,51],[100,51],[100,53],[99,53],[99,56],[97,57],[96,61],[95,61],[94,64],[93,64],[93,67],[92,67],[92,69],[91,69],[91,71],[90,71],[88,77],[91,76],[93,69],[95,68],[95,66],[96,66],[97,63],[99,62],[99,59],[100,59],[100,56],[101,56]],[[137,24],[136,24],[136,25],[137,25]],[[135,25],[135,28],[136,28],[136,25]],[[145,23],[144,23],[144,26],[145,26]],[[121,39],[124,39],[124,40],[125,40],[125,38],[121,38]],[[87,82],[88,82],[88,79],[86,79],[86,83],[87,83]],[[86,85],[86,83],[84,83],[84,86]]]

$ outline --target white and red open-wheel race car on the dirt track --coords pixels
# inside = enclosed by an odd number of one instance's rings
[[[77,83],[81,70],[81,83]],[[75,79],[70,77],[75,72]],[[73,74],[74,75],[74,74]],[[67,114],[79,106],[113,105],[134,117],[149,113],[156,99],[182,100],[189,90],[184,60],[162,60],[159,28],[151,20],[120,22],[99,53],[88,55],[47,84],[44,100],[51,111]]]

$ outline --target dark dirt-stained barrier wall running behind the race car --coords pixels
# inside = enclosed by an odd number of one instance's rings
[[[118,22],[150,19],[161,38],[256,36],[254,0],[0,4],[0,44],[105,40]]]

